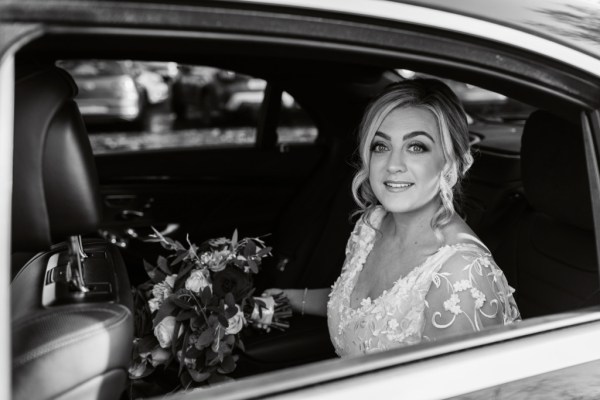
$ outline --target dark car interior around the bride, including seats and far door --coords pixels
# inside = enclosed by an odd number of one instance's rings
[[[98,128],[86,126],[75,81],[60,61],[94,59],[210,66],[264,80],[253,139],[93,153]],[[16,67],[15,399],[114,399],[124,392],[134,335],[129,289],[147,279],[143,260],[159,253],[142,240],[151,227],[181,241],[234,229],[264,236],[273,257],[263,264],[258,292],[331,286],[357,218],[350,192],[357,126],[373,96],[406,79],[400,69],[489,89],[503,95],[502,104],[519,105],[511,114],[465,103],[475,163],[460,200],[516,289],[522,317],[600,302],[580,103],[435,59],[359,59],[281,45],[249,51],[233,42],[162,38],[150,46],[135,37],[47,35],[19,51]],[[284,92],[309,116],[317,132],[311,141],[279,139]],[[105,134],[113,142],[117,136]],[[67,287],[79,277],[65,266],[80,253],[87,285],[74,295]],[[244,343],[236,378],[335,357],[320,317],[294,316],[290,329],[249,333]],[[36,385],[26,384],[32,380]]]

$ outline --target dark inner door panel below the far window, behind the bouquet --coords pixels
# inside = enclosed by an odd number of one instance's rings
[[[319,145],[105,154],[96,157],[103,227],[180,225],[196,241],[270,233],[283,206],[327,157]]]

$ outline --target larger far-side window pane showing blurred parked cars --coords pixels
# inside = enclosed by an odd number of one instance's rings
[[[67,60],[95,154],[252,146],[266,82],[171,62]]]

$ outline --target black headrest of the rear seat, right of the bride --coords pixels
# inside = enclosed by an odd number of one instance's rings
[[[579,125],[546,111],[533,112],[523,129],[521,169],[534,209],[582,229],[593,229],[592,205]]]

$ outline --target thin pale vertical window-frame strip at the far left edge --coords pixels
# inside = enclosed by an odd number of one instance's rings
[[[0,61],[0,399],[11,398],[10,246],[13,170],[15,57]]]

